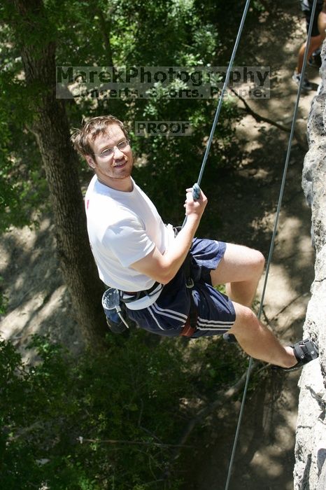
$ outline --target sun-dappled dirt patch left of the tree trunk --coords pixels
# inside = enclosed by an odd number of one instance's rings
[[[59,270],[50,218],[39,230],[24,227],[1,238],[0,276],[8,300],[1,336],[12,339],[22,352],[33,333],[78,350],[82,340]]]

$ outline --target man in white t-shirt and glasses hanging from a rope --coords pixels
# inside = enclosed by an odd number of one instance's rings
[[[99,276],[120,291],[129,318],[171,337],[227,332],[249,356],[284,370],[318,357],[311,340],[282,346],[251,311],[264,267],[260,252],[194,238],[207,204],[202,191],[194,200],[186,190],[187,219],[176,232],[132,179],[132,148],[120,120],[92,118],[71,139],[94,170],[85,207]],[[222,283],[227,295],[213,288]]]

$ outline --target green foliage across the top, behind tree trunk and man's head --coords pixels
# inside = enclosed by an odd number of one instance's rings
[[[41,211],[48,199],[41,155],[30,132],[36,117],[32,104],[43,89],[26,85],[20,57],[22,45],[38,50],[44,43],[55,41],[57,66],[109,66],[112,62],[116,66],[214,65],[223,47],[213,13],[214,8],[222,11],[223,4],[219,1],[210,6],[210,17],[204,3],[194,0],[43,0],[43,8],[35,13],[45,19],[41,23],[44,31],[40,31],[30,29],[36,18],[24,26],[12,2],[3,2],[0,87],[4,97],[0,101],[0,127],[5,137],[0,148],[0,231],[10,224],[31,223],[36,219],[33,211]],[[233,21],[230,26],[234,29]],[[67,102],[66,111],[71,127],[78,127],[85,116],[102,113],[113,113],[127,123],[135,155],[148,162],[136,178],[140,184],[150,182],[149,195],[155,196],[164,218],[176,222],[183,213],[184,190],[199,174],[217,102],[171,99],[164,94],[136,100],[80,97],[76,102]],[[234,151],[232,121],[236,111],[232,104],[224,105],[208,162],[213,176],[220,167],[229,166],[228,155]],[[136,120],[189,121],[192,135],[135,138]],[[213,193],[211,178],[204,182],[208,194],[209,186]]]

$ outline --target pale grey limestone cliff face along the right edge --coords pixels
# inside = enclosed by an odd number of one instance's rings
[[[317,340],[320,358],[304,367],[299,381],[295,490],[326,490],[326,43],[322,57],[322,83],[309,114],[309,151],[302,177],[311,207],[311,237],[316,250],[304,338]]]

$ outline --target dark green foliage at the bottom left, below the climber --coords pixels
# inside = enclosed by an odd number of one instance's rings
[[[192,400],[212,400],[244,363],[213,339],[185,349],[180,339],[156,343],[143,331],[112,335],[105,353],[78,359],[46,337],[31,347],[38,363],[27,367],[10,342],[0,342],[6,490],[178,489],[177,475],[163,481],[167,444],[178,443],[196,414]]]

